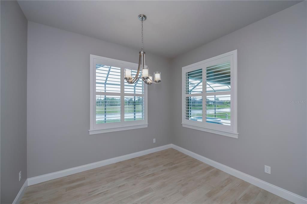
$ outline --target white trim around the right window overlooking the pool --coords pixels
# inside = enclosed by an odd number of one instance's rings
[[[231,129],[224,130],[219,128],[217,124],[216,127],[212,127],[213,124],[206,125],[206,120],[203,122],[191,121],[185,119],[185,73],[187,70],[197,70],[202,67],[204,63],[208,63],[213,60],[218,60],[220,58],[231,57],[233,66],[231,67]],[[206,89],[203,89],[203,93],[206,92]],[[221,92],[222,93],[222,92]],[[220,93],[218,93],[220,94]],[[238,138],[239,133],[237,132],[237,50],[227,52],[216,57],[212,57],[194,64],[182,67],[182,127],[187,127],[195,130],[200,130],[204,132],[219,134],[231,138]],[[206,99],[203,98],[203,117],[206,115]],[[211,127],[210,127],[211,126]]]

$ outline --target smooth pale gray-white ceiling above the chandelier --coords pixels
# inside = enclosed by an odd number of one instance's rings
[[[174,57],[301,1],[18,1],[29,21]]]

